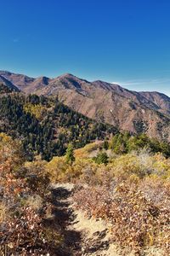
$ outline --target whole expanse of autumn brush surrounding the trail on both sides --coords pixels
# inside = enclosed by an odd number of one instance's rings
[[[116,154],[100,143],[70,148],[49,162],[38,157],[26,162],[22,152],[18,140],[0,134],[0,244],[10,253],[55,255],[62,236],[47,225],[53,210],[49,188],[69,182],[77,188],[74,207],[88,218],[105,220],[122,255],[150,255],[150,247],[170,254],[167,156],[147,148]]]

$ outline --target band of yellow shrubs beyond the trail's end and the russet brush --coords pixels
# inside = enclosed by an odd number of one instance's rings
[[[96,143],[75,150],[76,160],[72,166],[66,164],[64,157],[54,157],[46,165],[53,182],[77,182],[102,184],[114,179],[128,180],[129,183],[139,183],[140,179],[150,177],[161,180],[170,177],[170,160],[161,154],[123,154],[116,155],[110,163],[97,165],[88,157],[89,153],[98,148]]]

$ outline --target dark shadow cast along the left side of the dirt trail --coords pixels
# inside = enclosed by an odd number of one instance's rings
[[[59,229],[64,241],[62,242],[62,247],[55,255],[59,256],[71,256],[71,255],[82,255],[81,252],[81,234],[75,230],[67,230],[67,227],[72,224],[77,217],[68,201],[71,196],[71,191],[59,187],[52,189],[52,204],[53,204],[53,223],[55,228]]]

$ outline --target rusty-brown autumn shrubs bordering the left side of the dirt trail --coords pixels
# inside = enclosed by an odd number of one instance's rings
[[[0,135],[0,245],[14,255],[44,255],[59,244],[59,234],[45,226],[48,174],[24,166],[18,141]],[[46,189],[44,189],[46,188]],[[31,198],[34,198],[34,205]],[[37,201],[39,198],[39,201]],[[54,234],[55,241],[54,241]],[[4,253],[1,252],[1,253]]]

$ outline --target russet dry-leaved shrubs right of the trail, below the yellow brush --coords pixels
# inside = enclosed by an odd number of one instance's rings
[[[110,188],[80,189],[74,199],[77,208],[88,216],[109,221],[113,241],[122,247],[141,253],[146,247],[156,246],[170,252],[170,208],[167,201],[156,204],[138,185],[128,181],[113,184]]]

